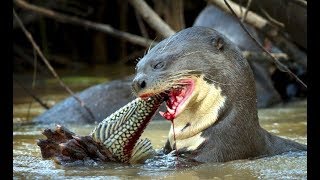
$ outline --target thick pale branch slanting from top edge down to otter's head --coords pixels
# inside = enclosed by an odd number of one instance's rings
[[[165,23],[157,13],[155,13],[149,5],[143,0],[130,0],[130,4],[143,17],[143,19],[163,37],[169,37],[175,33],[172,28]]]

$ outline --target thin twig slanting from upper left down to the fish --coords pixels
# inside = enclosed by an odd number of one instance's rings
[[[51,64],[49,63],[49,61],[47,60],[47,58],[43,55],[42,51],[40,50],[39,46],[36,44],[36,42],[34,41],[31,33],[24,27],[24,25],[22,24],[19,16],[16,14],[15,10],[13,9],[13,15],[16,18],[18,24],[20,25],[22,31],[24,32],[24,34],[26,35],[26,37],[28,38],[28,40],[30,41],[30,43],[32,44],[33,48],[36,50],[36,52],[38,53],[38,55],[40,56],[40,58],[43,60],[43,62],[47,65],[48,69],[51,71],[52,75],[59,81],[60,85],[65,88],[67,90],[67,92],[76,100],[80,103],[80,105],[85,108],[85,110],[89,113],[89,115],[91,116],[91,118],[93,119],[93,121],[95,121],[95,117],[93,115],[93,113],[90,111],[90,109],[85,105],[85,103],[79,99],[79,97],[77,97],[73,91],[61,80],[61,78],[59,77],[59,75],[55,72],[55,70],[53,69],[53,67],[51,66]]]

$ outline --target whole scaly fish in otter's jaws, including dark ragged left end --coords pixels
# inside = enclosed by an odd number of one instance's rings
[[[139,139],[164,101],[161,96],[136,98],[101,121],[87,136],[79,136],[64,126],[45,129],[47,139],[39,139],[44,159],[58,164],[78,160],[100,160],[128,164],[143,163],[155,155],[149,139]]]

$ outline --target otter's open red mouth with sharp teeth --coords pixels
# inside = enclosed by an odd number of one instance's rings
[[[165,91],[165,93],[162,93],[165,96],[167,111],[159,111],[159,113],[170,121],[175,119],[185,109],[194,90],[193,79],[183,79],[178,84],[178,86],[174,86]]]

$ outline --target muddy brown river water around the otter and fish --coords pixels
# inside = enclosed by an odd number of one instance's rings
[[[69,77],[73,81],[75,77]],[[79,77],[77,77],[79,78]],[[83,77],[82,77],[83,78]],[[81,78],[80,78],[81,79]],[[74,89],[104,82],[107,79],[86,77],[84,86],[75,85]],[[41,84],[41,83],[40,83]],[[49,83],[50,84],[50,83]],[[54,83],[52,83],[54,84]],[[57,85],[44,83],[40,96],[51,105],[65,98],[63,90],[53,90]],[[50,90],[51,89],[51,90]],[[163,156],[145,164],[126,165],[119,163],[63,167],[52,160],[43,160],[36,140],[44,138],[41,131],[53,128],[51,125],[38,125],[30,119],[44,110],[32,103],[30,98],[18,87],[14,87],[13,99],[13,177],[14,179],[306,179],[307,152],[286,153],[256,160],[236,160],[226,163],[206,163],[191,167],[176,167],[176,159]],[[29,106],[31,107],[29,109]],[[281,137],[307,144],[307,101],[299,100],[286,105],[259,110],[261,125]],[[29,115],[28,115],[29,114]],[[29,118],[27,119],[27,115]],[[87,135],[94,125],[65,125],[79,135]],[[152,121],[143,133],[155,149],[160,149],[166,140],[170,124],[168,121]]]

